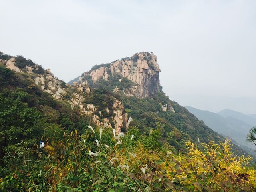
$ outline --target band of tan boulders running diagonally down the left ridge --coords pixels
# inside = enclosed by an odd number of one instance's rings
[[[88,103],[87,96],[91,92],[88,86],[77,83],[69,86],[62,80],[56,78],[50,69],[41,69],[38,73],[38,69],[41,66],[34,63],[28,64],[26,63],[28,60],[25,58],[22,59],[24,62],[23,65],[19,65],[16,60],[18,60],[16,57],[0,59],[0,64],[14,72],[28,75],[42,91],[51,94],[57,100],[63,100],[69,103],[72,109],[79,108],[81,114],[88,116],[91,119],[90,121],[96,126],[113,126],[117,134],[121,132],[121,128],[125,128],[128,114],[124,112],[123,104],[117,98],[113,97],[111,106],[104,109],[107,114],[113,114],[110,118],[107,118],[101,115],[101,111],[98,110],[97,106]]]

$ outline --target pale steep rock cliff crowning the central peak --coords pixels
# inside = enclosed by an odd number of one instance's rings
[[[110,64],[96,68],[90,73],[85,72],[79,78],[79,83],[87,84],[90,79],[93,82],[98,82],[100,79],[108,81],[113,76],[120,76],[136,84],[124,91],[126,95],[145,98],[152,97],[156,92],[161,90],[159,72],[160,68],[157,64],[157,56],[153,53],[140,52],[131,57],[116,60]]]

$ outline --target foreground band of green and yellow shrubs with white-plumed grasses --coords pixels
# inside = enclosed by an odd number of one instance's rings
[[[228,140],[186,142],[186,154],[161,146],[157,130],[75,129],[44,148],[33,140],[5,148],[2,191],[252,191],[256,170],[236,158]],[[153,139],[151,139],[153,138]],[[3,177],[4,176],[4,177]]]

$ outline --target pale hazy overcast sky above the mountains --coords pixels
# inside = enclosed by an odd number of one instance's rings
[[[256,114],[255,0],[0,0],[0,51],[68,82],[153,52],[182,106]]]

